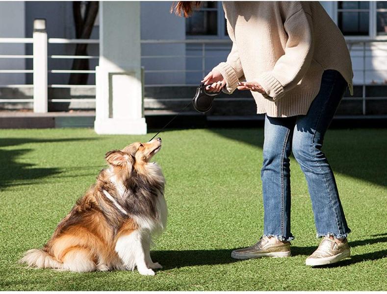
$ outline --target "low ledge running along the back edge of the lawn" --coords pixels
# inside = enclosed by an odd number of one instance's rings
[[[177,112],[145,111],[145,121],[150,130],[160,129]],[[0,111],[0,129],[4,128],[62,128],[94,127],[94,111],[33,113],[21,111]],[[212,116],[197,112],[182,113],[168,128],[190,127],[258,127],[263,126],[263,115]],[[387,115],[344,116],[336,115],[331,127],[387,127]]]

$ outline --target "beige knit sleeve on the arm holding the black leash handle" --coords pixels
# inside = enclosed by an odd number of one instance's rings
[[[242,64],[240,63],[239,59],[238,49],[229,26],[230,24],[227,20],[227,28],[229,31],[230,39],[232,40],[231,52],[227,57],[226,62],[221,62],[212,69],[220,72],[223,75],[223,78],[226,80],[226,87],[223,88],[223,92],[226,94],[232,94],[235,91],[237,83],[239,82],[239,78],[244,75]]]

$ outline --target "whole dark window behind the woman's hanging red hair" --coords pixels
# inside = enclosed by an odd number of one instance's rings
[[[199,10],[186,19],[185,33],[187,36],[218,35],[218,3],[202,1]]]

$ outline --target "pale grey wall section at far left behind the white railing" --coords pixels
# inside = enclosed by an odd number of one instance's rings
[[[25,2],[24,1],[0,1],[0,38],[24,38],[25,37]],[[25,44],[0,44],[0,54],[24,55]],[[1,70],[24,70],[24,59],[1,58]],[[26,68],[26,69],[32,69]],[[32,75],[32,74],[29,74]],[[24,84],[24,73],[0,73],[0,84]]]

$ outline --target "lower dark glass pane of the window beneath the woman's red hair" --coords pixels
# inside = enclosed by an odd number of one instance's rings
[[[191,17],[186,19],[185,33],[187,35],[217,35],[218,34],[218,12],[217,11],[195,11]]]

